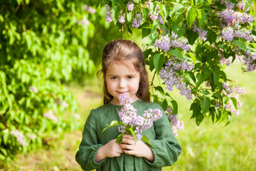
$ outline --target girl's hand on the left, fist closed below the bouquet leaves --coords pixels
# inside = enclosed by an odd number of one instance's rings
[[[117,139],[110,140],[97,151],[95,162],[100,162],[105,157],[119,157],[123,152],[122,148],[116,142]]]

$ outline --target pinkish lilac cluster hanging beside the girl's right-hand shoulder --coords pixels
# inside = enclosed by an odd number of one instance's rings
[[[178,130],[183,130],[184,129],[184,124],[183,121],[179,120],[177,118],[177,115],[175,115],[172,112],[172,109],[169,107],[166,109],[166,114],[167,114],[167,118],[169,118],[169,120],[171,120],[171,129],[174,132],[174,136],[177,137],[178,136]]]

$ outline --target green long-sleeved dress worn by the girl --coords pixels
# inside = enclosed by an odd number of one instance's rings
[[[159,108],[163,113],[162,118],[156,120],[151,128],[144,130],[142,133],[142,135],[149,138],[149,142],[153,146],[151,150],[154,153],[154,162],[149,162],[144,157],[136,157],[125,153],[122,153],[119,157],[107,157],[99,163],[95,162],[97,150],[119,135],[117,126],[107,128],[102,133],[105,126],[110,124],[112,120],[120,121],[118,113],[122,105],[108,103],[92,110],[86,120],[82,131],[82,141],[75,155],[75,160],[82,167],[82,170],[161,170],[161,167],[173,165],[176,162],[178,155],[181,153],[181,145],[174,137],[164,110],[158,103],[146,103],[140,99],[132,105],[137,109],[137,115],[142,115],[144,110],[149,108]]]

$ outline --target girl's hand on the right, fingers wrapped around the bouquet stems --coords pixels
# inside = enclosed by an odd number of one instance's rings
[[[142,140],[137,140],[136,144],[132,135],[123,135],[122,142],[119,144],[124,153],[135,155],[137,157],[145,157],[150,162],[154,162],[154,154],[149,146]]]

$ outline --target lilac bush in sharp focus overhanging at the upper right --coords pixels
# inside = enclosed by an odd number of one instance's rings
[[[102,4],[110,7],[106,9],[107,21],[112,11],[111,19],[124,28],[122,31],[132,34],[138,29],[142,33],[145,40],[142,42],[146,42],[143,44],[145,63],[154,73],[151,81],[154,102],[164,110],[167,106],[174,108],[176,100],[171,97],[171,91],[176,87],[181,95],[193,101],[191,118],[196,119],[197,125],[204,118],[211,118],[213,123],[223,122],[221,115],[228,124],[231,116],[238,114],[240,101],[222,91],[223,82],[230,81],[224,68],[239,60],[243,72],[256,70],[252,1],[133,0]],[[120,24],[121,16],[125,19]],[[156,75],[163,85],[154,85]]]

